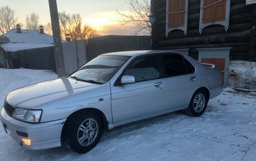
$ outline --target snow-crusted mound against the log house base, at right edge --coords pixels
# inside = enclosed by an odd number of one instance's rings
[[[229,86],[242,91],[256,91],[256,62],[231,61]]]

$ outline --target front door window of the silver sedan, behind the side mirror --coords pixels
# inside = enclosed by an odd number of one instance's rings
[[[157,56],[136,59],[124,72],[124,75],[134,76],[135,82],[158,79],[160,77]]]

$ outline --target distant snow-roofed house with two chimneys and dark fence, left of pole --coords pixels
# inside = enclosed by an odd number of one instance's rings
[[[44,33],[43,26],[37,31],[17,24],[16,29],[0,36],[0,67],[56,71],[53,46],[53,37]]]

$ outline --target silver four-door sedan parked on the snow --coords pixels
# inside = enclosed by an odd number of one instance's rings
[[[0,118],[24,148],[86,153],[116,126],[179,110],[201,116],[221,91],[221,72],[185,54],[107,53],[69,76],[11,91]]]

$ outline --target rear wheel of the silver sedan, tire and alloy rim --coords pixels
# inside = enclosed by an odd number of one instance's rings
[[[208,100],[204,90],[197,90],[190,100],[189,107],[184,110],[185,113],[193,117],[201,116],[207,108]]]

